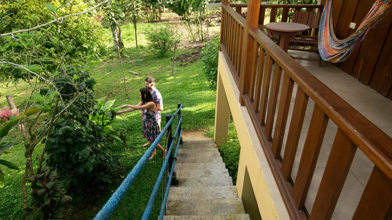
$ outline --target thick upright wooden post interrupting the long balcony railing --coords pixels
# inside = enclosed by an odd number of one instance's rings
[[[242,64],[240,74],[240,104],[245,105],[242,95],[249,91],[249,79],[252,68],[252,52],[254,51],[254,39],[249,35],[249,28],[257,28],[260,16],[260,0],[249,0],[246,16],[246,26],[243,35]]]

